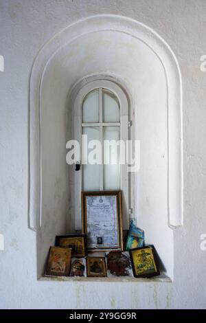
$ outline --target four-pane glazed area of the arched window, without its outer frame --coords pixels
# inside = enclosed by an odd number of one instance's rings
[[[88,142],[98,140],[100,146],[95,151],[99,148],[102,160],[97,164],[82,163],[82,190],[121,189],[120,126],[117,96],[101,87],[90,91],[82,103],[82,135],[87,135]],[[87,162],[88,153],[86,144],[82,149],[82,161]]]

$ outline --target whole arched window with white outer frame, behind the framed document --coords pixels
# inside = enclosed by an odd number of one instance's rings
[[[128,172],[126,162],[121,162],[126,159],[126,140],[128,140],[126,94],[115,82],[95,80],[77,91],[73,108],[75,115],[73,135],[82,143],[80,171],[75,172],[72,180],[75,186],[76,205],[73,207],[76,214],[76,230],[81,229],[79,201],[81,190],[122,190],[123,223],[127,229]],[[94,140],[98,141],[100,146],[96,146]],[[89,156],[95,157],[96,161],[90,163]]]

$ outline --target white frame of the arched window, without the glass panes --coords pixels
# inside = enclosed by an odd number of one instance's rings
[[[85,96],[94,89],[107,89],[111,91],[117,96],[119,100],[120,107],[120,122],[105,122],[105,125],[115,125],[120,126],[120,140],[124,140],[126,144],[126,140],[128,140],[128,100],[124,91],[119,87],[115,82],[110,80],[94,80],[86,85],[84,85],[77,93],[76,98],[74,100],[74,124],[73,134],[74,139],[80,142],[80,151],[82,151],[81,146],[81,135],[82,135],[82,104]],[[101,100],[102,96],[99,96],[99,100]],[[102,102],[99,102],[102,105]],[[100,116],[101,118],[101,116]],[[98,126],[98,122],[93,123],[95,126]],[[85,123],[83,126],[91,125],[91,123]],[[120,147],[120,155],[121,155],[121,147]],[[102,165],[103,167],[103,165]],[[129,173],[127,171],[127,165],[120,165],[120,189],[122,190],[122,209],[123,209],[123,228],[128,230],[129,223]],[[103,185],[103,183],[101,183]],[[81,165],[81,156],[80,156],[80,171],[76,172],[74,178],[74,186],[75,193],[74,199],[76,201],[76,207],[74,210],[75,213],[75,229],[82,230],[82,221],[81,221],[81,199],[80,192],[82,191],[82,165]],[[102,187],[102,186],[100,186]]]

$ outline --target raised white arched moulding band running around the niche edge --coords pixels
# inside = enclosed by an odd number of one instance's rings
[[[168,109],[168,225],[183,225],[182,86],[172,49],[150,27],[124,16],[89,16],[56,34],[38,53],[30,78],[30,196],[29,227],[41,227],[41,85],[47,64],[74,39],[100,31],[122,32],[137,38],[159,58],[167,82]]]

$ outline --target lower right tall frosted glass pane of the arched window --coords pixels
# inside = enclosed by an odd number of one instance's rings
[[[119,164],[119,126],[104,126],[104,190],[120,189],[120,164]],[[105,142],[106,140],[106,142]],[[108,142],[109,141],[109,142]]]

